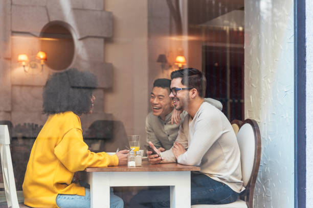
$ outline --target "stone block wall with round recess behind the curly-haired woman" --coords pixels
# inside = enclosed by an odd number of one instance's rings
[[[99,80],[96,96],[96,114],[88,116],[91,123],[97,119],[111,118],[103,112],[103,89],[113,83],[112,65],[103,61],[104,39],[112,36],[113,20],[110,12],[103,11],[103,2],[95,4],[64,1],[48,1],[40,4],[5,1],[4,9],[7,39],[4,46],[10,51],[6,60],[10,70],[4,73],[8,79],[8,107],[5,114],[13,125],[18,123],[43,124],[46,116],[41,115],[41,92],[47,76],[68,67],[91,70]],[[101,9],[99,9],[101,8]],[[81,22],[81,23],[78,23]],[[96,27],[96,25],[102,27]],[[17,63],[19,54],[35,59],[37,51],[47,53],[44,70],[21,70]]]

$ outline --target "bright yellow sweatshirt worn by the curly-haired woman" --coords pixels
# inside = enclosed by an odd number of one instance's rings
[[[31,207],[58,207],[58,194],[84,196],[71,184],[74,172],[86,167],[118,165],[116,154],[91,152],[82,138],[79,117],[73,112],[50,115],[33,145],[23,183],[24,203]]]

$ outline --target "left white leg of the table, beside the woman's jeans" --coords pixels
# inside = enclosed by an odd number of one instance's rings
[[[109,177],[105,172],[92,172],[88,178],[90,184],[91,208],[110,207]]]

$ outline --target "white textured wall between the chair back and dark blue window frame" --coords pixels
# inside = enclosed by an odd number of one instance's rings
[[[245,118],[262,138],[254,207],[294,207],[294,2],[246,0],[244,9]]]

